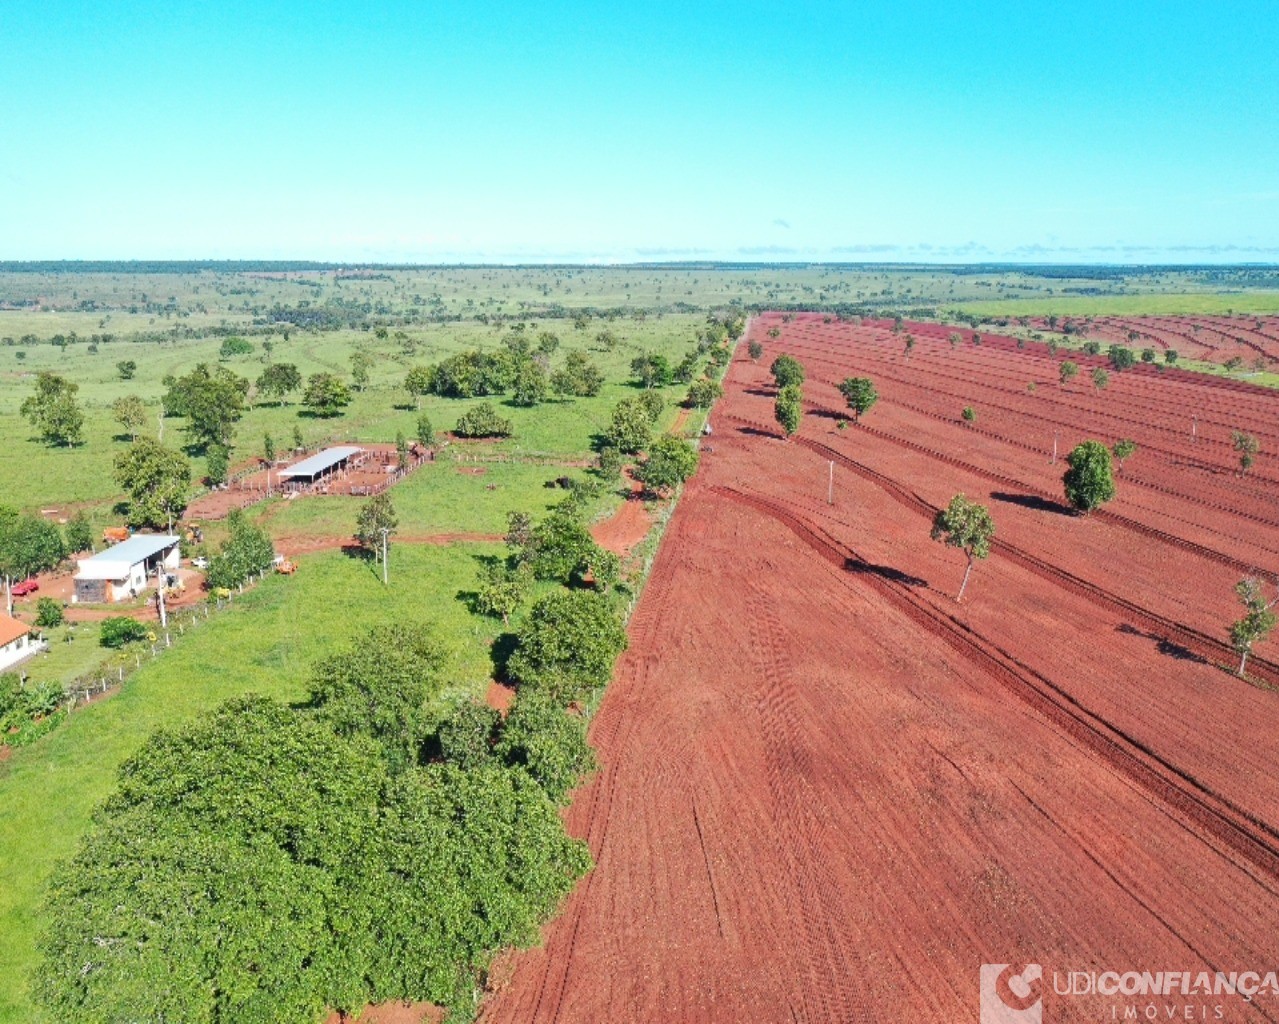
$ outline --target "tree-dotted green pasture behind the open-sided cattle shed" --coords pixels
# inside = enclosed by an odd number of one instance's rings
[[[4,316],[0,313],[0,331],[4,330]],[[613,407],[622,396],[633,394],[633,389],[625,382],[631,361],[647,350],[660,352],[678,361],[692,348],[701,322],[701,317],[687,314],[641,323],[618,321],[609,326],[618,339],[616,348],[611,352],[599,350],[593,340],[604,330],[604,325],[586,331],[574,331],[570,323],[549,325],[561,337],[555,364],[570,349],[586,350],[604,371],[609,384],[596,398],[550,401],[532,409],[504,407],[503,415],[514,421],[515,436],[501,447],[509,451],[561,453],[565,456],[588,454],[591,438],[608,422]],[[295,404],[295,399],[294,404],[283,407],[255,403],[237,428],[233,462],[243,463],[260,455],[267,433],[279,449],[288,447],[294,430],[301,430],[307,444],[325,438],[394,441],[396,432],[412,437],[418,409],[400,386],[408,369],[469,348],[492,349],[500,344],[499,337],[499,330],[480,323],[430,326],[412,332],[409,340],[414,352],[408,354],[391,337],[379,340],[363,332],[293,334],[288,341],[276,336],[274,361],[295,363],[303,376],[330,371],[349,377],[350,355],[357,350],[370,353],[375,359],[370,385],[367,390],[353,395],[353,401],[343,415],[329,419],[311,417]],[[111,467],[116,453],[128,446],[129,438],[122,435],[119,424],[113,419],[111,403],[130,394],[142,398],[156,417],[143,431],[155,436],[159,430],[160,396],[164,394],[161,380],[166,375],[182,375],[200,362],[215,363],[219,345],[217,339],[164,344],[113,341],[101,345],[96,354],[88,353],[87,345],[63,350],[52,345],[0,349],[0,433],[13,438],[0,451],[0,495],[29,510],[65,510],[68,506],[86,505],[101,524],[118,522],[110,514],[119,497]],[[20,368],[14,368],[15,352],[27,353]],[[119,378],[115,364],[124,359],[133,359],[138,364],[133,380]],[[261,355],[230,359],[226,366],[251,380],[256,380],[265,368]],[[33,436],[31,426],[18,414],[23,399],[32,390],[35,375],[41,369],[51,369],[79,385],[78,398],[86,413],[83,445],[70,449],[50,447]],[[671,401],[682,395],[683,389],[668,389]],[[431,418],[436,430],[450,430],[472,404],[475,403],[427,398],[421,403],[421,412]],[[184,421],[177,418],[165,421],[164,440],[168,444],[180,444],[183,424]],[[203,472],[203,463],[198,458],[194,460],[194,469],[197,473]]]

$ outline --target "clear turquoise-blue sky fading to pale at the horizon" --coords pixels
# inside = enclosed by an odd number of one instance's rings
[[[1266,3],[0,4],[0,258],[1279,261]]]

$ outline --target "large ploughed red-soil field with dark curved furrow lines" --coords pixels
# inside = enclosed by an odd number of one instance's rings
[[[906,359],[885,325],[752,322],[766,354],[739,348],[592,724],[602,768],[568,822],[596,868],[494,972],[485,1024],[957,1024],[982,963],[1024,961],[1045,1021],[1279,1021],[1276,997],[1051,983],[1279,969],[1279,692],[1219,667],[1234,582],[1279,569],[1279,395],[1152,372],[1063,390],[1039,346],[912,329]],[[789,442],[781,352],[808,372]],[[839,431],[854,375],[881,400]],[[1262,437],[1247,479],[1236,427]],[[1054,430],[1063,454],[1137,441],[1105,514],[1058,506]],[[998,525],[963,605],[963,556],[929,541],[958,491]]]

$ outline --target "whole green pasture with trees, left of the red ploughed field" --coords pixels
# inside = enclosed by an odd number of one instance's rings
[[[4,684],[31,741],[0,766],[15,883],[0,1020],[302,1020],[386,1000],[466,1019],[489,958],[535,941],[588,864],[556,808],[595,763],[581,708],[625,646],[641,568],[591,525],[629,493],[623,465],[648,502],[692,472],[684,436],[744,317],[329,312],[13,346],[12,578],[101,546],[107,525],[182,533],[203,486],[290,447],[394,444],[400,470],[412,442],[432,458],[365,501],[276,495],[202,522],[184,554],[207,559],[220,610],[184,619],[198,628],[171,649],[143,598],[105,616],[70,606],[70,621],[41,606],[50,651]],[[78,415],[81,436],[54,436]],[[505,548],[483,539],[504,532]],[[315,554],[276,575],[276,550]],[[118,692],[67,715],[61,683],[118,666]],[[518,690],[505,717],[485,704],[491,679]],[[220,767],[175,771],[201,763]],[[307,809],[321,794],[330,817]],[[197,892],[200,914],[170,913]]]

